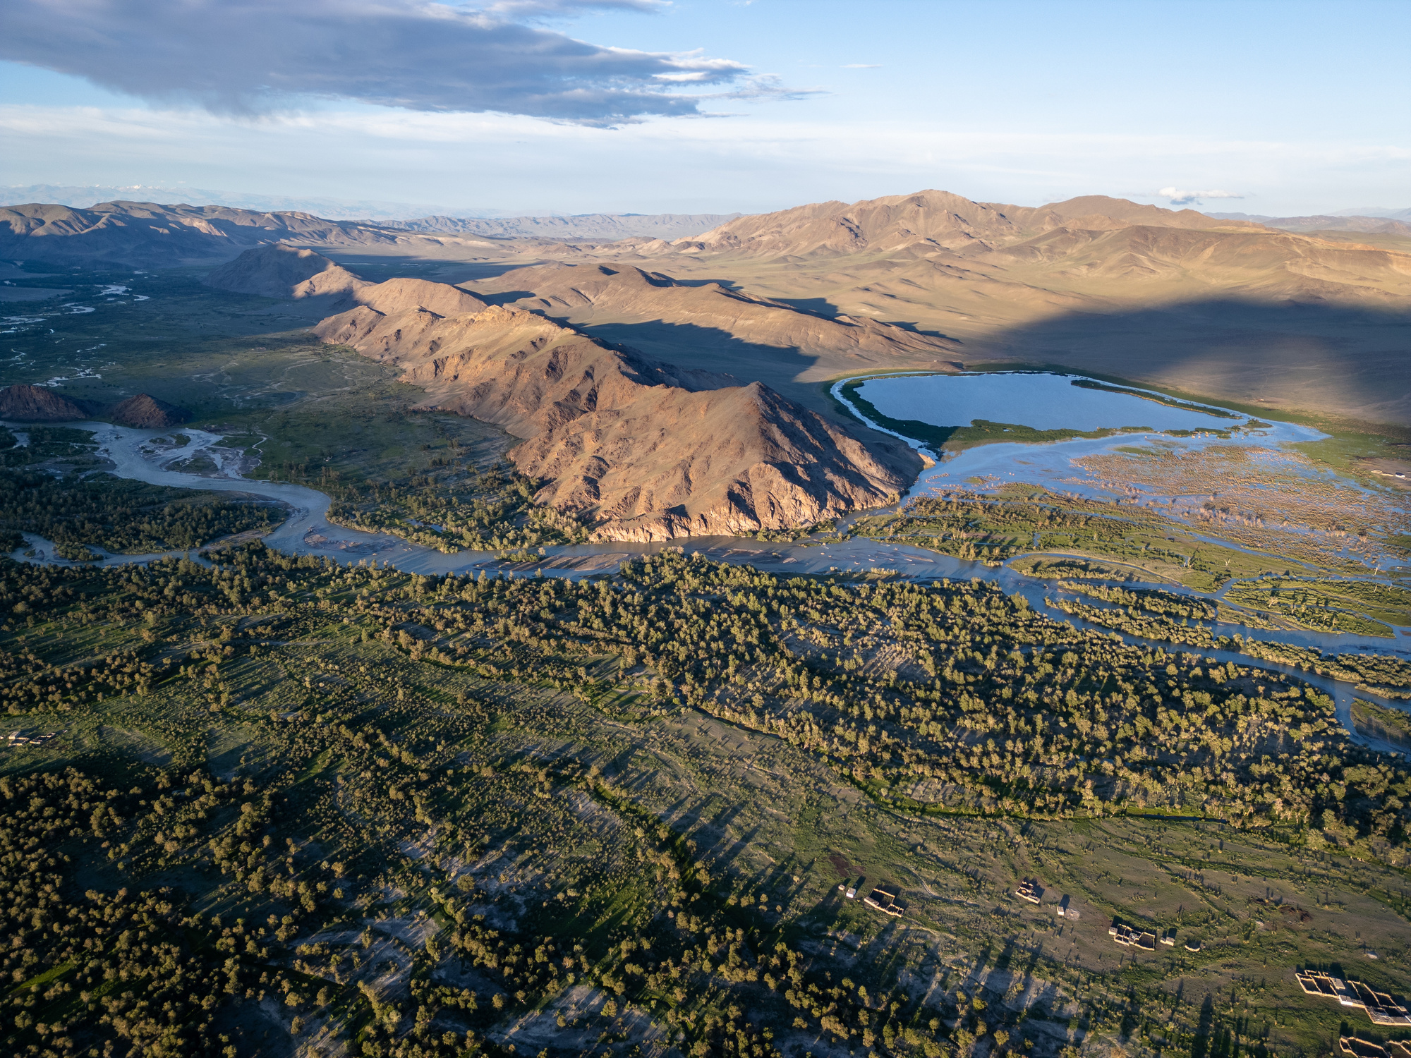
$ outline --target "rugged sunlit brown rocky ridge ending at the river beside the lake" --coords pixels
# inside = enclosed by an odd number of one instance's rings
[[[759,382],[680,371],[518,309],[360,306],[316,333],[402,367],[423,408],[523,437],[509,457],[546,481],[539,502],[586,515],[598,539],[811,525],[889,502],[920,467]]]

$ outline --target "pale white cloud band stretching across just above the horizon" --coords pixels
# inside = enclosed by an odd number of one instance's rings
[[[1338,200],[1394,197],[1411,161],[1404,145],[1377,141],[1026,131],[910,116],[858,126],[818,120],[811,107],[729,121],[649,117],[607,131],[358,104],[233,120],[195,109],[0,103],[0,142],[7,185],[185,181],[512,213],[755,212],[923,188],[1036,206],[1130,196],[1153,171],[1185,171],[1206,188],[1259,186],[1260,212],[1300,216],[1326,210],[1331,188]]]

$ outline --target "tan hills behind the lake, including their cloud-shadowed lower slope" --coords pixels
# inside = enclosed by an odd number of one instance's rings
[[[560,257],[683,284],[728,279],[818,315],[947,336],[967,364],[1054,364],[1270,412],[1411,425],[1407,250],[1388,231],[1294,233],[1102,196],[1020,207],[928,190]],[[622,324],[569,319],[631,340]],[[782,364],[769,381],[807,401],[809,382],[848,370],[820,358]]]

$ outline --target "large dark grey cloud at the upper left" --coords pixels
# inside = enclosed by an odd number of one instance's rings
[[[656,0],[7,0],[0,59],[148,100],[254,116],[301,97],[426,111],[499,111],[583,124],[700,113],[749,69],[700,52],[645,52],[526,23]],[[63,27],[62,31],[58,27]],[[721,92],[727,90],[727,92]],[[777,99],[789,92],[752,92]]]

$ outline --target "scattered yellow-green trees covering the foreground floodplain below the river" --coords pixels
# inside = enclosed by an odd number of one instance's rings
[[[161,738],[61,734],[63,762],[34,750],[0,782],[16,1054],[253,1052],[236,1011],[261,1003],[354,1054],[508,1054],[497,1027],[576,987],[597,999],[564,1033],[611,1042],[645,1017],[691,1055],[776,1054],[782,1031],[896,1055],[1019,1045],[964,995],[838,979],[766,892],[634,803],[631,770],[505,758],[495,729],[549,708],[515,688],[624,724],[700,710],[923,815],[1205,814],[1411,863],[1411,774],[1352,745],[1316,690],[1075,631],[978,581],[679,552],[597,580],[422,577],[254,543],[209,567],[11,563],[0,611],[16,725]],[[351,653],[325,657],[330,635]],[[471,691],[429,690],[428,666]],[[253,708],[251,684],[279,707]],[[222,777],[206,724],[265,749]],[[511,893],[536,910],[507,921]]]

